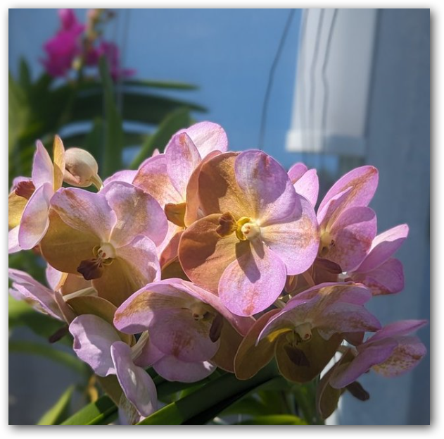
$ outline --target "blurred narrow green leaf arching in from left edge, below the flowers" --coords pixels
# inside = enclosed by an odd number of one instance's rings
[[[54,345],[43,345],[42,343],[27,342],[23,340],[10,340],[9,352],[39,355],[40,357],[45,357],[63,364],[63,366],[67,366],[82,375],[89,374],[89,369],[86,364],[77,359],[77,357],[74,357],[73,354],[56,349]]]

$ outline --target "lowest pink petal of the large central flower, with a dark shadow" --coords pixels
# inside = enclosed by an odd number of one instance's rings
[[[219,297],[239,316],[263,311],[281,294],[286,280],[284,262],[262,242],[251,242],[225,269],[219,281]]]

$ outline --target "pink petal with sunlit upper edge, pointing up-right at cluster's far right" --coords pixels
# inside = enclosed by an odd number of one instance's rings
[[[408,234],[409,226],[407,224],[400,224],[376,236],[372,242],[369,254],[367,254],[356,271],[364,273],[381,266],[399,249]]]

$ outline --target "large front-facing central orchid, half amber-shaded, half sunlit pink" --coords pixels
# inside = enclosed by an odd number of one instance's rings
[[[264,152],[225,153],[198,178],[204,218],[182,234],[179,261],[196,285],[220,296],[234,314],[263,311],[287,275],[309,268],[319,247],[315,211]]]

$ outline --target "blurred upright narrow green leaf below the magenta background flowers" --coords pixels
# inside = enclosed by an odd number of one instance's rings
[[[123,130],[122,118],[114,99],[114,86],[108,61],[104,56],[99,61],[105,99],[105,147],[103,148],[103,176],[108,177],[122,168]]]

